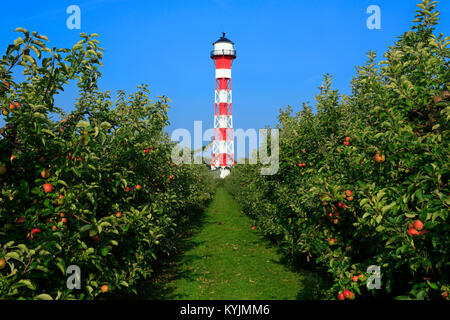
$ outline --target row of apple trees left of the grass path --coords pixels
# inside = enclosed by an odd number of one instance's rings
[[[153,102],[146,86],[114,102],[99,91],[96,34],[57,49],[16,31],[23,37],[0,60],[0,298],[134,291],[210,200],[209,172],[172,163],[167,98]],[[79,98],[66,114],[54,96],[69,81]],[[81,289],[66,286],[70,265]]]

